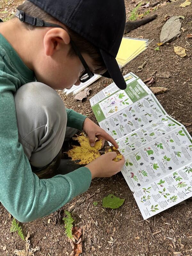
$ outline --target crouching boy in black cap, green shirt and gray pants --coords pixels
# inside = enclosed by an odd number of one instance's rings
[[[123,0],[30,0],[0,22],[0,201],[19,221],[55,212],[86,191],[95,177],[110,177],[124,158],[102,155],[66,175],[40,180],[44,166],[64,173],[64,139],[83,130],[115,140],[89,118],[66,109],[55,89],[79,85],[93,72],[125,89],[115,60],[124,33]],[[37,82],[36,82],[37,81]]]

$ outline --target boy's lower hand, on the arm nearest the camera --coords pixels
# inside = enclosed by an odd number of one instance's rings
[[[90,164],[87,164],[85,167],[90,170],[92,179],[96,177],[111,177],[117,172],[120,172],[125,163],[125,159],[123,156],[120,161],[114,162],[113,159],[116,158],[116,156],[116,152],[108,152],[99,156]]]

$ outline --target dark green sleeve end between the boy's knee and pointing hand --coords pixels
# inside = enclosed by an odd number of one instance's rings
[[[66,110],[67,110],[67,126],[76,128],[81,131],[83,129],[83,123],[86,116],[77,113],[73,109],[66,108]]]

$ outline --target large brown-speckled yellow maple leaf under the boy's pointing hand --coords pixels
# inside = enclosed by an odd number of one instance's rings
[[[73,148],[69,149],[66,153],[69,157],[72,158],[73,161],[81,160],[77,164],[89,164],[101,155],[98,150],[103,147],[102,140],[97,140],[94,147],[90,146],[89,138],[87,136],[84,136],[84,134],[81,134],[80,136],[77,135],[77,138],[73,138],[73,140],[78,140],[81,146],[73,145]]]

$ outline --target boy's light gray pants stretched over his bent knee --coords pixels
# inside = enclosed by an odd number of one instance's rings
[[[46,84],[28,83],[14,94],[19,142],[34,167],[44,167],[77,130],[67,125],[65,105]]]

